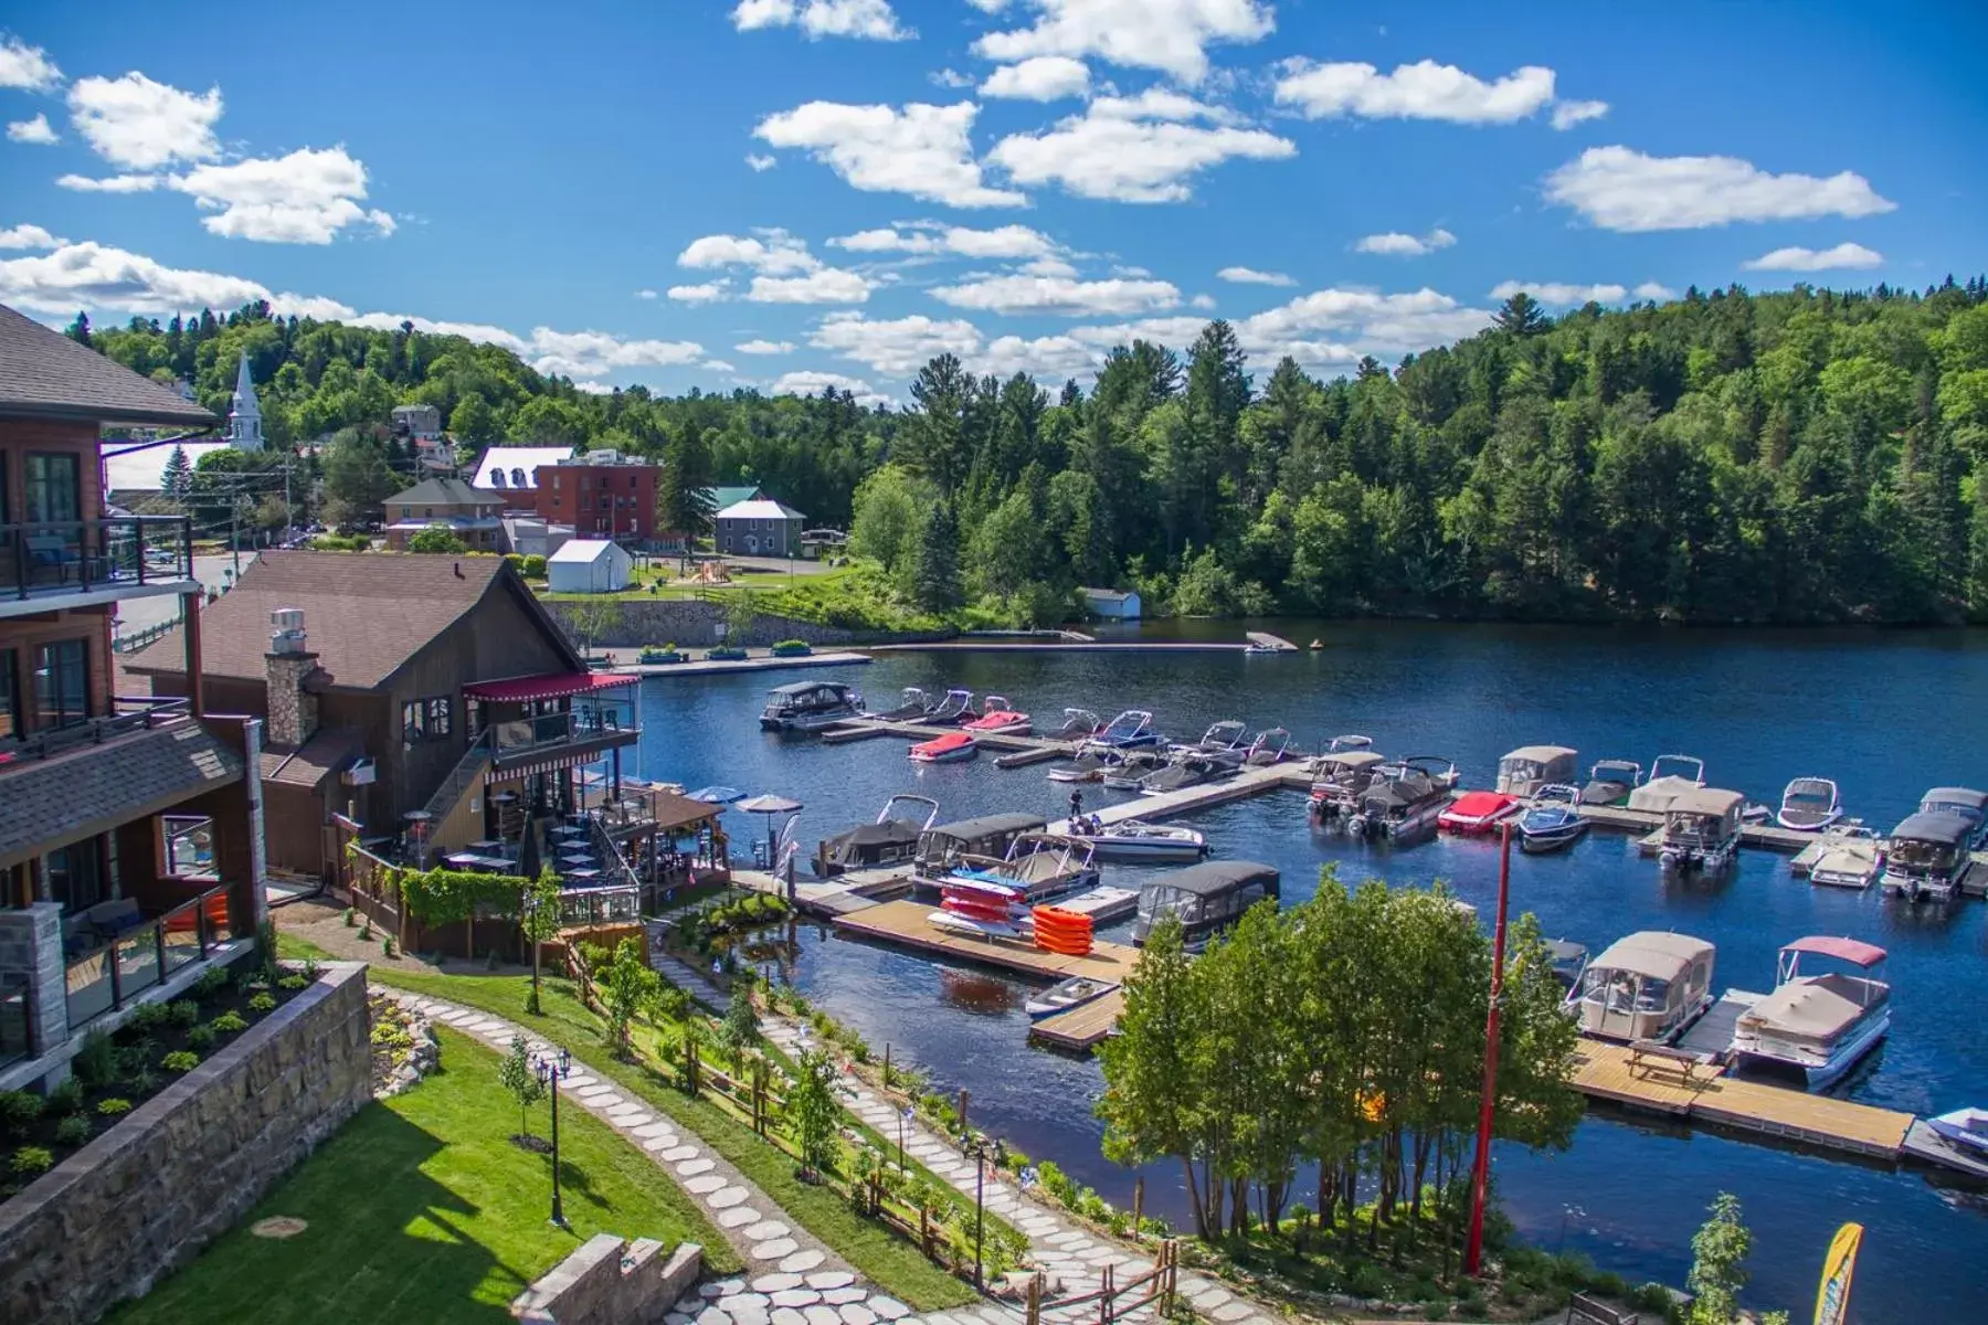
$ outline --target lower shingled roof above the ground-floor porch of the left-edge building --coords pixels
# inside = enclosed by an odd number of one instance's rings
[[[0,765],[0,868],[241,781],[243,761],[195,721]]]

